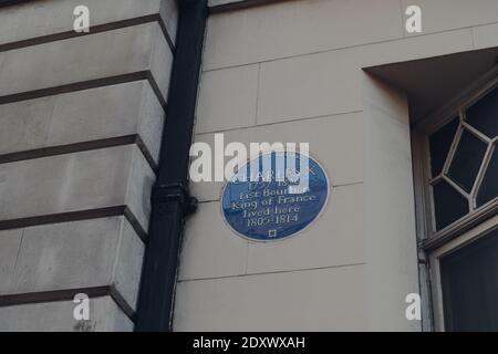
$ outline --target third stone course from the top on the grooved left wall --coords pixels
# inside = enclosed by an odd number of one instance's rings
[[[0,105],[0,155],[138,135],[157,163],[164,110],[147,81]]]

